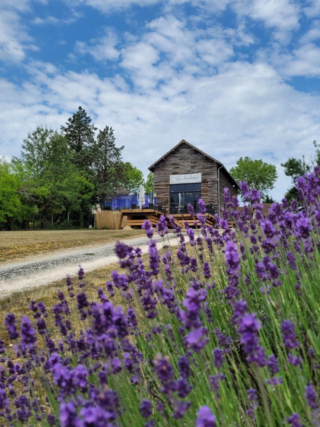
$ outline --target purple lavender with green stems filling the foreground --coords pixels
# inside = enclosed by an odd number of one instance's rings
[[[119,270],[96,301],[80,268],[53,307],[8,313],[0,422],[320,425],[320,168],[297,185],[302,209],[283,200],[267,219],[258,191],[241,184],[254,219],[225,191],[222,232],[204,224],[201,202],[187,238],[173,220],[146,220],[148,258],[119,242]],[[166,242],[169,225],[179,246],[160,253],[152,236]]]

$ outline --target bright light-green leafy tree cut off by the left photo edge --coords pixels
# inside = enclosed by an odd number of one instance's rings
[[[21,219],[22,205],[19,197],[20,181],[12,165],[0,158],[0,226],[11,228],[12,219]]]

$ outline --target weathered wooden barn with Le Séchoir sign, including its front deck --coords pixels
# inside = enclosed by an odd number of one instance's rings
[[[155,224],[160,214],[173,214],[181,226],[185,220],[191,224],[187,205],[192,204],[197,211],[199,198],[206,205],[208,223],[213,224],[213,215],[220,216],[224,207],[223,189],[229,188],[232,195],[238,192],[236,181],[219,160],[184,139],[152,163],[149,170],[153,172],[156,203],[143,209],[121,209],[128,216],[128,225],[140,225],[145,218]]]

